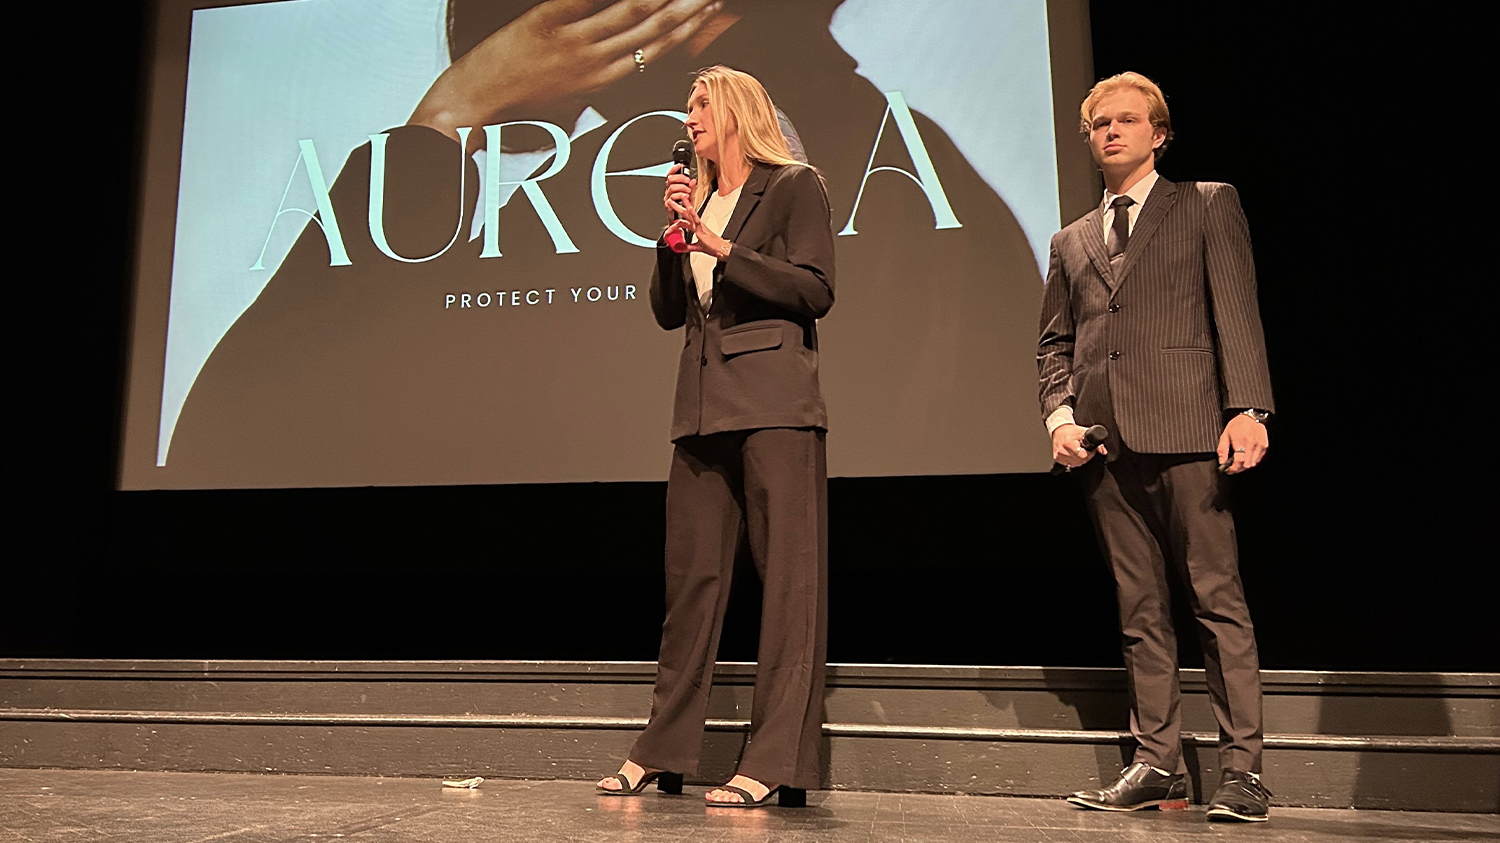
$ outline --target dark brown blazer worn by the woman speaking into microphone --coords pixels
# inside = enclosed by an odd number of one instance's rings
[[[818,318],[834,303],[828,196],[807,166],[756,165],[724,225],[706,314],[687,255],[657,243],[651,312],[687,326],[672,440],[760,428],[828,428],[818,386]]]

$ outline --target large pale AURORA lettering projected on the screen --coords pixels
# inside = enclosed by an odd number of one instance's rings
[[[921,188],[922,195],[927,198],[928,206],[933,212],[933,228],[962,228],[963,224],[952,213],[952,206],[948,202],[948,195],[944,190],[942,182],[938,177],[938,171],[933,166],[932,156],[927,153],[927,146],[922,142],[921,132],[916,129],[916,122],[912,118],[912,111],[906,105],[906,98],[900,92],[886,92],[885,94],[885,114],[880,118],[880,128],[876,132],[874,142],[870,147],[870,159],[866,164],[864,176],[860,178],[860,192],[855,196],[854,208],[849,212],[849,219],[844,226],[838,231],[842,237],[850,237],[858,234],[855,230],[855,218],[860,214],[860,204],[864,201],[866,188],[868,186],[870,176],[873,172],[891,171],[906,176]],[[650,111],[646,114],[639,114],[626,120],[616,128],[604,144],[600,147],[598,154],[594,158],[592,170],[590,172],[590,194],[594,204],[594,212],[598,214],[600,222],[608,228],[615,237],[630,243],[633,246],[652,248],[656,240],[651,237],[644,237],[632,231],[615,213],[614,206],[609,201],[609,178],[618,176],[650,176],[650,177],[664,177],[670,164],[660,164],[652,166],[642,166],[636,170],[621,170],[609,171],[609,154],[615,148],[615,141],[620,140],[621,134],[634,123],[645,120],[648,117],[672,117],[674,120],[682,122],[687,118],[681,111]],[[902,170],[900,166],[874,166],[874,158],[880,150],[880,142],[885,138],[885,128],[888,123],[896,123],[897,135],[902,144],[906,147],[908,154],[912,159],[912,166],[915,172]],[[501,180],[501,134],[507,126],[536,126],[552,138],[554,148],[550,164],[540,174],[530,176],[526,178],[518,180]],[[472,128],[462,128],[459,134],[459,148],[465,148],[468,144],[470,134]],[[514,192],[525,196],[531,204],[531,208],[537,213],[542,225],[546,228],[548,236],[552,238],[552,248],[556,254],[576,254],[579,249],[573,244],[573,238],[568,237],[567,230],[562,226],[562,220],[558,218],[548,200],[546,194],[542,190],[542,182],[552,178],[568,165],[572,158],[573,142],[568,140],[567,132],[561,126],[554,123],[544,123],[540,120],[516,120],[508,123],[496,123],[490,126],[483,126],[484,132],[484,207],[480,208],[483,213],[483,246],[480,250],[480,258],[501,258],[504,256],[500,250],[500,208],[502,206],[501,196],[510,195],[510,192],[502,192],[502,188],[513,188]],[[369,189],[369,214],[368,225],[370,238],[375,242],[376,249],[381,250],[387,258],[394,261],[402,261],[408,264],[420,264],[441,256],[454,243],[464,231],[462,202],[464,202],[464,178],[466,178],[465,162],[459,159],[460,182],[459,182],[459,224],[453,231],[453,237],[446,246],[438,249],[430,255],[410,256],[399,255],[392,249],[390,242],[386,237],[386,141],[390,134],[381,132],[370,135],[370,189]],[[333,201],[328,198],[328,184],[324,178],[322,164],[318,160],[318,150],[315,148],[312,140],[302,140],[298,144],[297,160],[292,164],[291,177],[286,180],[286,190],[282,192],[280,204],[276,207],[276,214],[272,216],[272,224],[266,232],[266,244],[261,246],[261,254],[255,260],[252,270],[264,270],[266,248],[270,244],[272,234],[276,231],[276,222],[288,213],[303,214],[312,222],[318,224],[322,231],[324,240],[328,243],[328,266],[344,267],[351,266],[348,250],[344,246],[344,236],[339,230],[339,219],[333,210]],[[308,186],[312,189],[314,202],[316,210],[308,210],[300,207],[286,207],[286,196],[291,194],[291,188],[297,180],[297,174],[304,172],[308,178]],[[462,302],[462,298],[459,300]],[[453,302],[447,303],[448,306]],[[462,306],[462,304],[460,304]]]

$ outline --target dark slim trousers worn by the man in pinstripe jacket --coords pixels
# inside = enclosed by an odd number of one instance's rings
[[[1134,760],[1184,771],[1178,638],[1167,576],[1185,580],[1198,622],[1220,765],[1260,772],[1260,656],[1239,579],[1234,518],[1212,454],[1120,448],[1083,472],[1104,555],[1114,572],[1130,681]]]

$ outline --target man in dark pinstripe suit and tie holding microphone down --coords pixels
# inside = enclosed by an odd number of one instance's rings
[[[1119,780],[1068,801],[1188,804],[1168,592],[1178,576],[1220,723],[1208,816],[1260,822],[1260,663],[1221,489],[1221,474],[1266,453],[1274,410],[1250,231],[1234,188],[1156,176],[1172,120],[1146,76],[1095,86],[1082,120],[1106,194],[1052,240],[1036,366],[1053,459],[1082,474],[1114,572],[1137,748]],[[1086,424],[1108,429],[1102,459],[1083,448]]]

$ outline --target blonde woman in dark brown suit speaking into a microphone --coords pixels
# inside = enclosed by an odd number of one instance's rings
[[[748,74],[699,72],[687,132],[700,178],[668,176],[651,309],[684,327],[668,478],[666,624],[651,722],[598,782],[681,792],[698,768],[718,633],[741,534],[765,585],[750,740],[711,806],[800,807],[819,782],[826,662],[828,417],[818,318],[834,300],[822,178],[792,158]],[[668,246],[682,236],[687,254]]]

